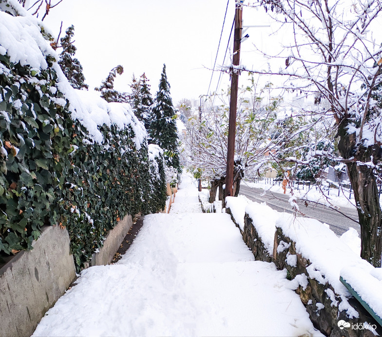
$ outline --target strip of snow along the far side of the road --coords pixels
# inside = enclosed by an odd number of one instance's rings
[[[241,184],[243,186],[248,187],[257,187],[262,188],[264,191],[272,191],[272,192],[278,192],[278,193],[284,193],[283,187],[279,186],[278,182],[272,182],[269,180],[269,184],[266,183],[265,180],[259,181],[258,183],[250,183],[247,181],[242,181]],[[340,190],[340,196],[338,196],[338,189],[330,188],[329,189],[329,195],[327,195],[328,191],[325,190],[321,192],[319,189],[316,190],[316,186],[311,185],[310,188],[307,186],[299,186],[299,189],[297,189],[297,186],[293,188],[293,195],[297,198],[308,200],[308,201],[314,201],[320,204],[324,204],[327,206],[337,206],[337,207],[355,207],[355,201],[354,201],[354,193],[351,194],[351,198],[349,199],[349,192],[344,191],[344,193]],[[287,187],[287,195],[290,195],[290,188]],[[328,199],[330,203],[328,202]]]

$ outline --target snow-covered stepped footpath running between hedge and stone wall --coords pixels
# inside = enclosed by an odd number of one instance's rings
[[[187,212],[197,188],[183,179],[171,213],[146,216],[117,264],[84,270],[33,336],[322,336],[229,215]]]

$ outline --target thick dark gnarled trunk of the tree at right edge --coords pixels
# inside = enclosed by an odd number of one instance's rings
[[[375,267],[381,267],[382,212],[377,181],[373,168],[363,164],[370,163],[372,156],[373,160],[379,161],[381,159],[380,147],[359,147],[354,154],[355,134],[346,133],[344,125],[340,126],[339,134],[341,138],[338,150],[341,155],[344,159],[354,157],[354,160],[357,161],[346,163],[346,165],[361,225],[361,257]]]

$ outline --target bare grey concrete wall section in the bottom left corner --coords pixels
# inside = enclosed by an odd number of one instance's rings
[[[76,277],[66,229],[46,226],[28,252],[0,269],[0,336],[30,336]]]

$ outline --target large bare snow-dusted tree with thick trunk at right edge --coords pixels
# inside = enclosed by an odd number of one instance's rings
[[[285,60],[285,68],[270,66],[256,73],[285,76],[284,88],[312,97],[309,112],[334,118],[338,150],[358,207],[361,257],[380,267],[382,212],[376,176],[382,160],[382,41],[374,39],[373,24],[381,14],[381,0],[260,0],[257,5],[290,29],[292,42],[276,56]]]

